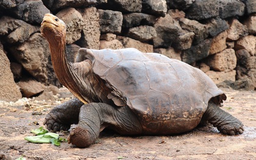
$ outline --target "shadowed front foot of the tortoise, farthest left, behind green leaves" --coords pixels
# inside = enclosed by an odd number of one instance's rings
[[[43,125],[46,125],[48,130],[56,131],[67,131],[70,128],[70,124],[61,123],[57,119],[55,114],[49,113],[44,119]]]

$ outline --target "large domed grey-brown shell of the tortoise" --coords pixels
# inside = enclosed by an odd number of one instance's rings
[[[94,74],[112,89],[108,98],[117,106],[128,105],[144,130],[154,126],[155,133],[165,134],[165,123],[173,125],[172,133],[191,130],[200,122],[210,99],[226,100],[221,89],[200,69],[162,54],[133,48],[79,52],[87,52]],[[184,124],[188,127],[182,130]]]

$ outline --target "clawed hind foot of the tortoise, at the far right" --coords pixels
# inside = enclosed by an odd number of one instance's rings
[[[228,123],[217,127],[222,134],[233,136],[235,134],[242,134],[244,131],[243,124],[240,123]]]

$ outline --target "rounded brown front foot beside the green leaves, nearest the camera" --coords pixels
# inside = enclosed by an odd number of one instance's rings
[[[90,133],[82,127],[73,128],[68,135],[68,143],[79,148],[85,148],[93,144],[96,139],[90,137]]]

